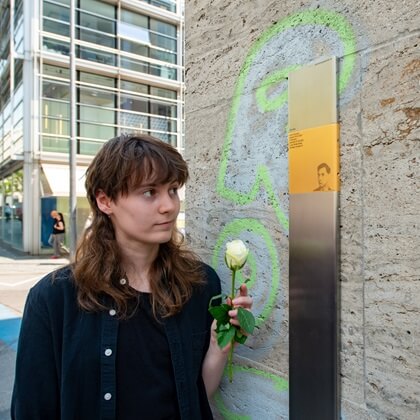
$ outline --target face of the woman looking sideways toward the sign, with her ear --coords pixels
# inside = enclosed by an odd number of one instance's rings
[[[96,201],[100,210],[110,216],[117,242],[122,246],[168,242],[180,209],[177,182],[146,182],[115,201],[100,192]]]

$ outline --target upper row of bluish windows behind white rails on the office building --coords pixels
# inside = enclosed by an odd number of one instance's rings
[[[161,3],[171,9],[173,2]],[[42,48],[69,55],[68,1],[43,1]],[[77,56],[93,63],[121,66],[178,80],[177,25],[98,0],[80,0],[76,8]],[[118,16],[120,15],[120,16]]]

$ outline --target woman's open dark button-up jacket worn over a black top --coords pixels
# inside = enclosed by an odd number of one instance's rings
[[[212,322],[208,303],[220,293],[220,279],[204,268],[206,284],[164,321],[183,420],[212,418],[201,366]],[[23,314],[12,420],[114,420],[118,325],[111,306],[98,313],[78,307],[70,267],[40,280]]]

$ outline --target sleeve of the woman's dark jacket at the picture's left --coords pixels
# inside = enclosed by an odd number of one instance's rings
[[[45,301],[32,289],[19,335],[12,420],[59,420],[60,392],[52,327]]]

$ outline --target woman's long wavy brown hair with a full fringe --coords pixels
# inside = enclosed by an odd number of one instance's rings
[[[86,192],[92,210],[91,225],[85,230],[72,265],[81,308],[99,311],[111,299],[121,318],[130,316],[134,289],[121,285],[125,277],[121,251],[111,219],[96,204],[102,190],[112,200],[127,196],[144,181],[156,184],[188,179],[188,167],[171,145],[147,135],[122,135],[106,142],[86,172]],[[153,312],[162,317],[178,313],[202,283],[199,258],[183,246],[175,228],[169,242],[160,244],[150,270]]]

